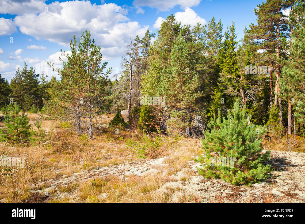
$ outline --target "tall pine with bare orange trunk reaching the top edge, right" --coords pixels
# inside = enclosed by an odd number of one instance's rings
[[[274,106],[279,107],[280,124],[283,125],[282,99],[279,88],[279,78],[281,76],[281,58],[287,58],[287,52],[284,51],[285,39],[289,37],[290,29],[288,26],[287,16],[283,11],[289,9],[294,0],[268,0],[266,3],[258,5],[256,10],[258,16],[257,23],[250,25],[250,38],[255,40],[253,45],[257,50],[265,50],[261,61],[269,62],[275,71],[275,92]],[[267,66],[267,65],[265,65]],[[271,70],[272,71],[272,70]],[[270,109],[271,109],[271,91],[273,91],[272,73],[270,73]],[[272,93],[273,94],[273,93]]]

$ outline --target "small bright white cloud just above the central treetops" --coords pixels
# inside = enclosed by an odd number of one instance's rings
[[[185,8],[184,12],[176,12],[175,19],[181,24],[189,25],[191,24],[192,27],[196,26],[199,22],[201,25],[206,24],[206,20],[198,16],[198,14],[188,7]]]

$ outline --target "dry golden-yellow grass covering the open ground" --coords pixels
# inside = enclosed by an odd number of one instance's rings
[[[113,116],[106,115],[101,122],[109,122]],[[38,115],[28,114],[28,117],[33,124]],[[198,203],[202,201],[199,195],[190,194],[183,188],[165,187],[167,186],[165,184],[174,181],[174,178],[175,181],[185,185],[190,176],[196,175],[191,169],[185,168],[189,168],[189,162],[204,152],[201,140],[184,138],[177,143],[174,139],[163,136],[164,144],[161,146],[162,153],[159,157],[164,158],[164,166],[156,167],[156,172],[147,175],[125,175],[122,171],[121,175],[89,176],[89,171],[96,167],[139,162],[139,158],[125,145],[129,138],[140,141],[142,133],[122,129],[117,135],[115,130],[110,128],[96,133],[94,138],[89,140],[58,128],[58,120],[44,118],[41,120],[43,129],[52,130],[51,139],[33,145],[5,146],[0,143],[1,151],[6,150],[8,156],[26,156],[30,167],[13,169],[14,178],[1,176],[0,200],[5,198],[6,202],[37,200],[49,203]],[[3,123],[0,123],[1,125]],[[264,146],[266,149],[285,150],[284,143],[285,140],[282,143],[265,141]],[[298,150],[302,151],[304,148],[304,140],[298,139]],[[35,170],[34,165],[36,165]],[[64,178],[73,177],[75,173],[79,174],[75,181],[60,182]],[[51,186],[53,187],[49,188]],[[47,196],[42,193],[45,189],[48,189]],[[39,192],[42,195],[39,195]],[[271,197],[264,198],[264,202],[272,200]],[[248,202],[252,201],[249,199]],[[211,198],[211,202],[223,201],[219,195],[216,195]]]

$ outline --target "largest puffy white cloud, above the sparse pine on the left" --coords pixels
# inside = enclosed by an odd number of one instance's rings
[[[148,27],[143,28],[138,22],[129,21],[125,16],[127,9],[114,3],[52,2],[48,7],[49,12],[16,16],[14,23],[23,34],[65,46],[69,46],[74,35],[79,40],[84,30],[88,29],[95,43],[111,52],[110,55],[109,52],[102,53],[116,57],[122,55],[130,38],[135,35],[142,37]],[[113,51],[115,48],[117,50]]]

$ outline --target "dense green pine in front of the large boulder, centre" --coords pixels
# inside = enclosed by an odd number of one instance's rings
[[[202,96],[195,61],[189,54],[182,32],[174,41],[170,55],[170,66],[162,77],[160,94],[166,96],[170,116],[178,119],[175,126],[182,130],[190,125],[192,115],[196,109],[198,111],[198,99]]]

